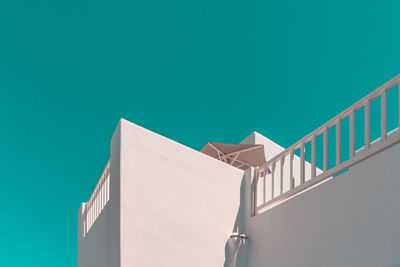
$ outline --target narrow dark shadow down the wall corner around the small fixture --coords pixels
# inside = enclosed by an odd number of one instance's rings
[[[245,218],[250,209],[246,202],[246,184],[251,180],[251,169],[247,169],[243,174],[240,185],[240,205],[236,215],[232,233],[245,234]],[[248,263],[248,239],[231,237],[225,245],[224,267],[245,267]]]

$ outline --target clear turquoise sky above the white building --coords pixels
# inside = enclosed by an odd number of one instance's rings
[[[194,149],[254,130],[289,146],[400,72],[399,10],[1,1],[0,266],[76,266],[77,211],[119,118]]]

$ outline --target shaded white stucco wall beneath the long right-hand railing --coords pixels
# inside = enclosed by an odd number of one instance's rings
[[[397,145],[254,217],[248,173],[236,266],[400,266],[399,158]]]

